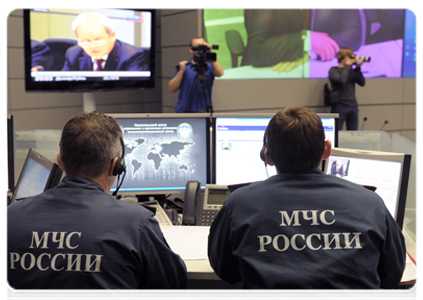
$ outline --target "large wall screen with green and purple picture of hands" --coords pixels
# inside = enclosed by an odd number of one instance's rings
[[[419,8],[204,8],[218,80],[328,78],[349,47],[366,78],[419,77]]]

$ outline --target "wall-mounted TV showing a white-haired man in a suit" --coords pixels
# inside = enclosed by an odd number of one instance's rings
[[[25,8],[27,91],[154,87],[155,10]]]

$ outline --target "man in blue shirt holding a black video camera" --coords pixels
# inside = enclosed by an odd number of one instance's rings
[[[214,77],[223,75],[223,67],[202,37],[191,40],[189,52],[193,57],[179,62],[174,77],[169,81],[171,93],[179,90],[175,111],[210,111]]]

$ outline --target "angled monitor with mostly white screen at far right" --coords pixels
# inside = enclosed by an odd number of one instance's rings
[[[409,154],[335,148],[326,160],[324,172],[376,187],[375,192],[402,227],[410,162]]]

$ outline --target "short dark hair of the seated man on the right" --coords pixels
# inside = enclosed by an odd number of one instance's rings
[[[322,120],[302,106],[290,106],[270,120],[266,147],[279,173],[302,173],[318,167],[325,149]]]

